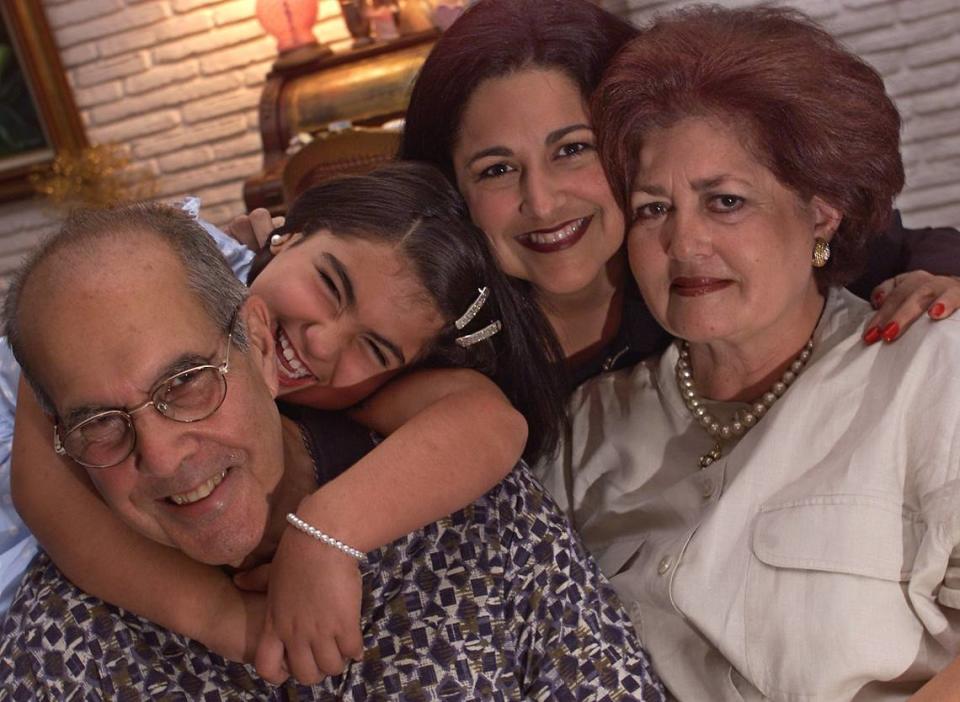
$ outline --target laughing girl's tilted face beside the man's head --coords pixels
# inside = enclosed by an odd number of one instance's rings
[[[443,320],[391,244],[295,234],[250,286],[276,324],[280,396],[339,409],[413,361]]]

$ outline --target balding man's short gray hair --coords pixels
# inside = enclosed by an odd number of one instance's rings
[[[183,210],[155,203],[138,203],[109,209],[74,210],[60,231],[50,236],[26,258],[14,274],[3,304],[2,324],[13,355],[33,388],[41,408],[55,414],[50,394],[40,384],[36,369],[23,348],[19,320],[20,299],[33,272],[57,256],[96,256],[109,241],[162,241],[183,264],[187,285],[210,320],[227,333],[234,315],[247,297],[247,288],[234,276],[216,243],[200,224]],[[109,271],[105,272],[109,275]],[[238,320],[233,343],[248,346],[246,328]]]

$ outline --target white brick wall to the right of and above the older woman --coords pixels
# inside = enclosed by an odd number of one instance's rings
[[[753,0],[714,0],[730,7]],[[617,0],[641,24],[678,0]],[[903,116],[909,226],[960,227],[960,0],[791,0],[881,74]]]

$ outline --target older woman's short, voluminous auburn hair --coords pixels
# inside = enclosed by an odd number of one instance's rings
[[[696,6],[654,20],[611,63],[593,114],[625,212],[651,129],[691,116],[746,129],[784,186],[843,213],[831,262],[817,270],[821,287],[856,276],[867,239],[887,226],[903,187],[900,115],[883,79],[787,8]]]

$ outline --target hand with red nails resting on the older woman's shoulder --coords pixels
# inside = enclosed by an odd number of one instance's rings
[[[867,322],[863,340],[890,343],[917,319],[943,319],[960,307],[960,278],[910,271],[894,276],[873,289],[870,301],[877,308]]]

